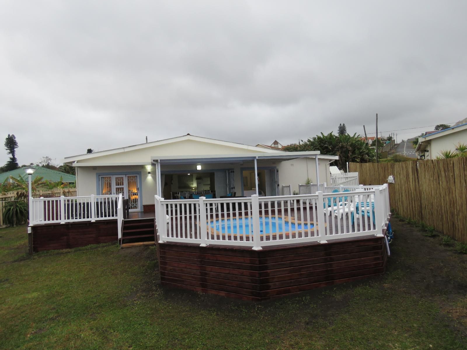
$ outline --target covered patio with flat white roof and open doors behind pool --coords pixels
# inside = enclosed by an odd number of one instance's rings
[[[290,195],[291,189],[298,193],[298,185],[307,179],[326,182],[330,176],[329,163],[335,159],[337,156],[317,151],[154,156],[151,165],[156,169],[158,196],[198,199],[205,194],[212,194],[206,198],[222,198]]]

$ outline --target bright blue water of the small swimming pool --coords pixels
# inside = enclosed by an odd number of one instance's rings
[[[237,231],[237,221],[238,221],[238,231]],[[227,220],[216,220],[210,222],[210,226],[212,229],[215,229],[216,232],[220,233],[227,233],[227,234],[243,234],[243,224],[245,224],[245,234],[252,233],[251,228],[251,220],[249,217],[239,217]],[[233,226],[233,227],[232,227]],[[295,232],[296,224],[287,222],[287,220],[283,220],[282,217],[278,217],[276,221],[276,217],[260,217],[260,231],[261,234],[269,234],[269,233],[281,233],[281,232]],[[302,224],[297,225],[298,230],[302,230]],[[303,230],[308,230],[308,226],[310,229],[313,228],[313,224],[304,224]],[[233,231],[232,231],[233,229]]]

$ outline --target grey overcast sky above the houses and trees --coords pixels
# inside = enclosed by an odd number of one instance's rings
[[[374,135],[375,113],[383,132],[453,123],[466,14],[466,0],[3,0],[1,143],[58,163],[145,136],[287,144],[339,123]]]

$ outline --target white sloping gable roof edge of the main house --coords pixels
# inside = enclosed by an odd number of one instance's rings
[[[217,144],[217,145],[222,145],[222,146],[237,147],[237,148],[243,148],[243,149],[254,150],[254,151],[256,150],[258,152],[277,152],[277,149],[272,150],[272,149],[263,148],[263,147],[249,146],[249,145],[245,145],[245,144],[242,144],[242,143],[209,139],[207,137],[190,135],[188,133],[186,135],[177,136],[177,137],[173,137],[173,138],[170,138],[170,139],[158,140],[158,141],[153,141],[153,142],[146,142],[146,143],[141,143],[141,144],[133,145],[133,146],[113,148],[113,149],[108,149],[108,150],[105,150],[105,151],[99,151],[99,152],[79,154],[79,155],[74,155],[74,156],[70,156],[70,157],[65,157],[64,162],[65,163],[72,163],[74,161],[82,161],[82,160],[85,160],[85,159],[99,157],[99,156],[102,156],[102,155],[109,155],[109,154],[116,154],[116,153],[122,153],[122,152],[127,152],[127,151],[134,151],[134,150],[138,150],[138,149],[142,149],[142,148],[154,147],[154,146],[164,145],[164,144],[168,144],[168,143],[172,143],[172,142],[183,141],[183,140],[196,140],[196,141],[202,141],[202,142],[212,143],[212,144]]]

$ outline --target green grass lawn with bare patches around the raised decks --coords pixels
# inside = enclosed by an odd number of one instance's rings
[[[0,229],[0,348],[466,349],[467,256],[392,224],[383,276],[257,304],[161,287],[155,247],[31,257]]]

